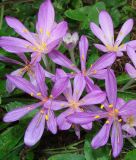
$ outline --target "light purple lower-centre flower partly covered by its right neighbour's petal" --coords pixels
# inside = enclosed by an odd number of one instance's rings
[[[64,74],[65,76],[65,73],[64,72],[62,73],[62,71],[61,74]],[[85,109],[84,106],[99,104],[103,102],[106,98],[104,92],[100,90],[93,90],[92,92],[88,93],[87,95],[85,95],[83,98],[80,99],[84,89],[85,89],[85,80],[82,75],[78,74],[75,76],[73,83],[73,93],[72,93],[72,86],[69,81],[68,87],[63,92],[67,102],[65,102],[64,104],[60,103],[60,106],[62,107],[65,106],[67,107],[67,109],[57,117],[57,123],[59,129],[67,130],[72,126],[72,123],[68,122],[66,119],[68,115],[76,112],[84,112]],[[79,125],[73,125],[73,126],[75,128],[76,135],[78,136],[78,138],[80,138]],[[90,130],[92,128],[92,123],[90,122],[88,124],[81,125],[81,127]]]

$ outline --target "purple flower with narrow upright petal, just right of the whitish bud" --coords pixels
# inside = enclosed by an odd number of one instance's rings
[[[73,70],[74,72],[70,74],[71,77],[74,77],[77,74],[83,76],[86,81],[87,87],[92,89],[94,85],[93,81],[89,77],[104,79],[107,72],[106,68],[113,64],[116,57],[114,53],[105,54],[102,57],[100,57],[94,64],[92,64],[88,70],[86,70],[86,58],[88,51],[88,40],[86,36],[81,37],[79,41],[79,50],[81,71],[59,51],[50,52],[49,57],[52,59],[53,62]]]

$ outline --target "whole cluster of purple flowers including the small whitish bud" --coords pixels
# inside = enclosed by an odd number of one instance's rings
[[[91,130],[94,121],[100,122],[103,119],[101,122],[104,121],[104,125],[93,138],[91,145],[95,149],[99,148],[111,137],[113,156],[117,157],[123,147],[123,138],[136,136],[136,100],[125,102],[117,97],[116,77],[111,66],[116,57],[127,52],[133,65],[127,63],[126,71],[130,77],[136,78],[136,40],[121,44],[132,30],[133,20],[129,19],[123,24],[114,41],[112,19],[106,11],[101,11],[100,27],[91,22],[90,28],[103,43],[95,44],[95,47],[105,54],[86,68],[89,44],[86,36],[82,35],[79,40],[80,69],[57,50],[62,40],[65,40],[67,47],[75,47],[78,34],[66,36],[67,22],[55,22],[55,12],[50,0],[40,6],[36,33],[30,32],[16,18],[6,17],[6,22],[23,37],[0,37],[0,47],[21,59],[19,62],[0,55],[1,61],[20,66],[7,75],[7,90],[12,92],[17,87],[38,102],[8,112],[3,118],[4,122],[17,121],[29,112],[39,109],[24,136],[25,144],[33,146],[40,140],[45,128],[56,134],[58,129],[68,130],[73,127],[80,138],[80,127]],[[31,60],[27,59],[24,52],[31,52]],[[58,68],[55,75],[47,72],[40,64],[44,56],[72,72],[66,73]],[[23,78],[25,73],[29,80]],[[53,84],[51,91],[45,83],[47,77]],[[105,81],[105,91],[94,83],[94,78]],[[61,110],[61,113],[56,116],[58,110]]]

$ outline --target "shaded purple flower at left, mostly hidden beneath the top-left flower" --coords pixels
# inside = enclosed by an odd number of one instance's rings
[[[11,73],[11,75],[22,77],[25,75],[25,73],[27,73],[30,78],[31,83],[33,85],[35,85],[36,80],[35,80],[34,70],[35,70],[35,65],[37,62],[36,61],[29,61],[24,53],[16,53],[16,55],[23,61],[23,63],[19,62],[17,60],[5,57],[3,55],[0,55],[0,61],[20,65],[21,68],[13,71]],[[46,77],[49,77],[51,79],[54,78],[53,74],[47,72],[46,70],[44,70],[44,72],[45,72]],[[6,82],[6,89],[9,93],[11,93],[15,89],[15,85],[13,85],[13,83],[11,83],[10,80],[8,80],[8,79]]]

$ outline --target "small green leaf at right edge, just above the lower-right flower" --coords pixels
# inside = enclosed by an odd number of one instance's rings
[[[136,99],[136,93],[118,91],[118,97],[123,98],[125,101],[128,101],[128,100]]]

